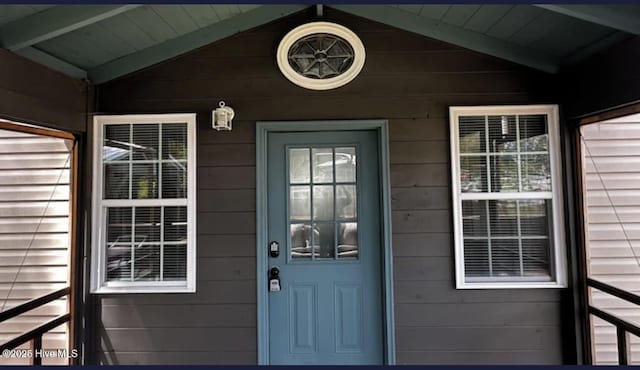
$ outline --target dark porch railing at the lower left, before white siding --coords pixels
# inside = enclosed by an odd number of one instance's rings
[[[0,323],[5,322],[6,320],[12,319],[18,315],[21,315],[25,312],[31,311],[35,308],[42,307],[47,303],[51,303],[56,299],[62,298],[64,296],[68,296],[71,292],[70,287],[66,287],[60,290],[57,290],[53,293],[49,293],[45,296],[35,298],[30,300],[29,302],[23,303],[19,306],[10,308],[6,311],[0,312]],[[33,356],[29,356],[32,361],[32,365],[42,365],[42,356],[38,355],[42,353],[42,336],[48,331],[54,329],[57,326],[65,324],[71,321],[71,314],[66,313],[64,315],[60,315],[55,319],[47,321],[46,323],[29,330],[28,332],[21,334],[10,341],[3,343],[0,345],[0,352],[4,350],[12,350],[17,348],[18,346],[23,345],[28,341],[33,341]]]

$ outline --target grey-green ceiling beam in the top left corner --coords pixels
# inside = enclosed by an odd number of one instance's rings
[[[141,5],[58,5],[0,29],[2,47],[12,51],[75,31]]]

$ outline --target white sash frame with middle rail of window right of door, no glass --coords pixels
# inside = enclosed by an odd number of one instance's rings
[[[456,287],[458,289],[477,288],[557,288],[565,287],[566,283],[566,257],[564,246],[563,203],[561,192],[560,173],[560,143],[558,112],[555,105],[531,105],[531,106],[477,106],[477,107],[451,107],[450,108],[450,142],[451,142],[451,171],[453,192],[453,216],[454,216],[454,241],[456,256]],[[543,192],[462,192],[460,180],[461,158],[471,157],[468,153],[460,153],[459,120],[463,116],[492,116],[492,115],[546,115],[548,129],[549,165],[551,171],[551,191]],[[529,154],[529,153],[526,153]],[[480,153],[477,156],[489,155]],[[491,154],[493,155],[493,153]],[[489,169],[491,171],[492,169]],[[549,200],[551,202],[552,225],[548,240],[550,244],[550,258],[552,258],[549,272],[550,281],[531,281],[528,277],[510,276],[470,278],[465,273],[464,240],[462,227],[462,201],[464,200]],[[514,236],[515,237],[515,236]]]

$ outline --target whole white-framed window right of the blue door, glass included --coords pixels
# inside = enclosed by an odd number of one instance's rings
[[[565,287],[558,107],[449,113],[456,287]]]

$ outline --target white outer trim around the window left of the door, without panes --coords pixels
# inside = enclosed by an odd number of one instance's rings
[[[105,124],[117,123],[187,123],[187,278],[186,281],[105,281],[105,213],[102,205],[102,142]],[[93,118],[93,191],[92,191],[92,243],[91,243],[91,293],[193,293],[196,291],[196,115],[132,114],[94,116]],[[151,199],[138,200],[141,206],[158,205]],[[164,200],[171,203],[174,200]],[[184,205],[184,201],[180,201]],[[112,202],[113,203],[113,202]],[[115,202],[117,203],[117,202]],[[130,206],[130,200],[122,201]],[[175,203],[175,202],[174,202]]]

